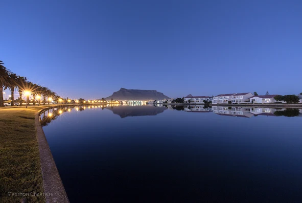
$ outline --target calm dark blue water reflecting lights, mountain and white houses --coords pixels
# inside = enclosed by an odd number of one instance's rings
[[[302,201],[301,109],[86,106],[41,119],[71,202]]]

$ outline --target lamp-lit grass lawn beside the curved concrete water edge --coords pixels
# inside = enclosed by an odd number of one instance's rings
[[[35,114],[50,105],[0,107],[0,202],[45,202],[43,196],[9,196],[8,192],[43,193]]]

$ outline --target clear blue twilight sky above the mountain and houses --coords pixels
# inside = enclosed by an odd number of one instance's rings
[[[0,60],[61,97],[302,92],[302,1],[2,1]]]

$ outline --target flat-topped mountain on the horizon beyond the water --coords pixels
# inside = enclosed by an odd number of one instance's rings
[[[106,97],[106,100],[162,100],[170,97],[157,92],[156,90],[142,89],[125,89],[121,88],[118,92],[114,92],[111,96]]]

